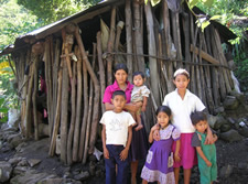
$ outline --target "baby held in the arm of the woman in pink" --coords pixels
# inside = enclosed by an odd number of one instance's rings
[[[141,123],[141,117],[140,113],[141,111],[145,111],[147,108],[147,104],[148,104],[148,97],[150,94],[150,90],[148,89],[148,87],[144,84],[144,74],[142,72],[134,72],[132,74],[132,82],[133,82],[133,89],[132,89],[132,94],[131,94],[131,102],[132,104],[138,104],[138,102],[142,102],[142,107],[140,107],[140,109],[133,115],[132,117],[137,120],[138,126],[136,127],[136,131],[140,130],[143,128],[142,123]]]

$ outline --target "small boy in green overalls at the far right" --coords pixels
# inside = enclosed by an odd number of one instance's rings
[[[215,144],[205,144],[207,131],[207,117],[202,111],[191,115],[191,120],[196,131],[192,137],[192,147],[196,148],[201,184],[212,184],[217,178],[216,148]],[[217,136],[213,136],[214,141]]]

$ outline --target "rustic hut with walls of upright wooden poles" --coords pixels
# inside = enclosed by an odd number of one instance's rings
[[[235,35],[217,22],[202,32],[195,21],[174,0],[155,7],[109,0],[17,39],[1,55],[11,53],[15,63],[23,136],[37,140],[39,127],[47,123],[48,154],[55,154],[60,136],[61,160],[86,163],[99,137],[101,100],[117,63],[127,64],[129,80],[134,71],[147,74],[147,130],[154,123],[154,109],[174,90],[179,67],[190,72],[190,90],[214,113],[234,88],[222,43]]]

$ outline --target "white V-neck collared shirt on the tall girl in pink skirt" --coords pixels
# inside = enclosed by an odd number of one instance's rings
[[[205,106],[201,99],[186,89],[184,99],[177,93],[177,89],[168,94],[163,100],[164,106],[169,106],[172,111],[172,123],[181,133],[193,133],[195,128],[191,122],[191,113],[193,111],[202,111]]]

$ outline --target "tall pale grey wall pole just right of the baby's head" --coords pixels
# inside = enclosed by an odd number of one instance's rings
[[[144,6],[144,12],[147,17],[147,30],[148,30],[148,52],[149,55],[157,55],[157,44],[155,44],[155,36],[154,36],[154,24],[153,24],[153,14],[151,11],[151,4],[148,2]],[[151,75],[151,90],[154,95],[155,102],[159,105],[161,104],[160,94],[159,94],[159,83],[160,78],[158,75],[158,66],[157,59],[153,57],[149,57],[149,67],[150,67],[150,75]]]

